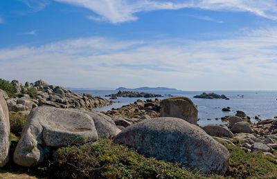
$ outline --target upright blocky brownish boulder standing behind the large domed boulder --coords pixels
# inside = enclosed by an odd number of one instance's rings
[[[188,97],[171,97],[161,101],[161,117],[177,117],[197,124],[198,110]]]

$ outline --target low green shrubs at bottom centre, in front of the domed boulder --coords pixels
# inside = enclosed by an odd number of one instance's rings
[[[51,173],[60,178],[202,178],[178,164],[145,158],[111,140],[58,149]]]

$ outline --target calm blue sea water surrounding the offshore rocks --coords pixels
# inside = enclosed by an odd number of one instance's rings
[[[105,97],[111,93],[117,93],[118,91],[99,91],[99,90],[75,90],[75,93],[90,93],[95,96]],[[198,108],[198,124],[205,126],[208,124],[222,124],[220,117],[225,115],[234,115],[235,111],[241,110],[247,113],[251,117],[252,122],[257,122],[254,119],[255,115],[260,115],[262,120],[277,116],[277,91],[143,91],[145,93],[155,93],[160,95],[173,95],[173,96],[186,96],[197,105]],[[194,95],[199,95],[202,92],[217,93],[220,95],[226,95],[230,100],[209,100],[193,98]],[[240,97],[244,95],[244,97]],[[109,97],[105,97],[109,99]],[[158,97],[164,99],[167,97]],[[107,111],[111,108],[120,108],[123,105],[127,105],[135,102],[136,100],[147,100],[153,98],[134,98],[134,97],[118,97],[118,103],[114,103],[111,106],[105,106],[96,109],[97,111]],[[222,108],[229,106],[230,112],[223,112]],[[219,118],[219,120],[215,120]]]

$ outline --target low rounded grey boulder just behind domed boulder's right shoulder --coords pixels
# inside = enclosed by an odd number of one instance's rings
[[[233,138],[233,133],[224,126],[219,126],[219,125],[208,125],[202,127],[202,129],[208,133],[208,135],[212,135],[215,137],[226,137],[226,138]]]

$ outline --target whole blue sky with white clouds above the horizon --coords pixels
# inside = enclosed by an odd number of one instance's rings
[[[1,0],[0,78],[277,89],[277,0]]]

